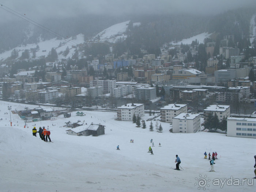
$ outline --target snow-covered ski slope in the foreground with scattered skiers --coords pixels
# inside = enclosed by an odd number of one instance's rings
[[[169,132],[169,123],[162,122],[162,133],[150,132],[150,121],[142,129],[132,122],[114,120],[116,113],[96,111],[83,111],[83,117],[73,112],[70,118],[61,115],[54,121],[27,123],[29,128],[24,128],[25,122],[18,114],[11,114],[10,127],[8,104],[12,110],[20,105],[0,101],[0,192],[191,192],[200,186],[202,191],[256,190],[256,180],[251,186],[255,139],[207,132],[175,134]],[[147,118],[148,114],[143,117]],[[105,125],[105,135],[68,135],[65,122],[77,120],[88,126],[92,122]],[[156,121],[152,122],[155,126]],[[53,143],[34,137],[34,124],[37,129],[49,125]],[[131,139],[134,143],[130,143]],[[155,144],[154,155],[147,153],[152,146],[150,139]],[[159,142],[162,147],[158,147]],[[117,145],[120,150],[116,150]],[[204,151],[217,151],[216,172],[209,172]],[[176,154],[184,170],[173,170]],[[234,179],[242,182],[243,178],[249,179],[249,185],[245,181],[237,186]],[[214,179],[225,183],[213,184]],[[228,179],[231,185],[227,185]]]

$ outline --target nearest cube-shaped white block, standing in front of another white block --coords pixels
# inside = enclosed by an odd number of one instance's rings
[[[173,117],[173,133],[195,133],[200,124],[200,114],[181,113]]]

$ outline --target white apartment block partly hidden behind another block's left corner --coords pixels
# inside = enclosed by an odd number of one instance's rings
[[[186,104],[169,104],[161,109],[161,121],[172,123],[173,117],[180,113],[187,113],[188,106]]]

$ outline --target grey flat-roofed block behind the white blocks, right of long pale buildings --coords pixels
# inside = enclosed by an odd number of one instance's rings
[[[155,87],[139,87],[134,92],[137,100],[150,101],[157,98]]]

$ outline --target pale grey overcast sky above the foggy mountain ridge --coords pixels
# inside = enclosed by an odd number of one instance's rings
[[[45,17],[72,17],[79,14],[195,13],[214,14],[256,4],[256,0],[0,0],[2,8],[39,21]],[[0,9],[0,22],[16,19]],[[256,12],[256,10],[255,10]]]

